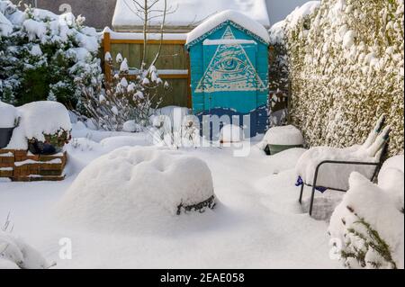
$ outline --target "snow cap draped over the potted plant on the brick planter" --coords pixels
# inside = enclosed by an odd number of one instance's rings
[[[17,108],[21,115],[20,125],[6,148],[27,149],[27,139],[44,141],[44,135],[53,135],[62,130],[72,130],[69,113],[62,103],[40,101]]]

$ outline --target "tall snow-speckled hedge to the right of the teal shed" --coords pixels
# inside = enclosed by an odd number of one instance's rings
[[[390,153],[401,152],[403,16],[402,0],[311,1],[270,30],[273,45],[286,51],[279,63],[291,82],[291,121],[311,146],[362,142],[386,113]]]

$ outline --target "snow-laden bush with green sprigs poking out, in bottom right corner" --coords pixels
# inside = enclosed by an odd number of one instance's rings
[[[403,183],[403,173],[401,179]],[[336,256],[349,268],[403,268],[403,212],[388,193],[365,176],[353,173],[349,184],[330,219]]]

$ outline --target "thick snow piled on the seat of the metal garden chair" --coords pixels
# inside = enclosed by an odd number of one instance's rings
[[[336,160],[378,163],[381,153],[380,151],[375,157],[369,157],[366,150],[362,148],[362,146],[357,145],[350,148],[311,148],[300,157],[295,169],[297,175],[302,177],[305,184],[313,185],[316,168],[322,161]],[[375,167],[376,166],[324,164],[320,167],[316,185],[346,191],[349,187],[348,178],[350,174],[358,172],[371,180],[374,175]]]

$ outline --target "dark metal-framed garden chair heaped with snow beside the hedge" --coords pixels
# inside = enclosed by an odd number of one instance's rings
[[[383,165],[383,155],[391,127],[383,130],[384,117],[380,118],[374,130],[363,145],[350,148],[311,148],[298,160],[295,167],[301,186],[299,202],[302,203],[304,186],[312,187],[310,215],[312,214],[315,191],[324,193],[326,190],[347,192],[348,178],[353,172],[365,175],[374,181]]]

